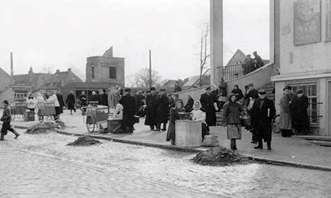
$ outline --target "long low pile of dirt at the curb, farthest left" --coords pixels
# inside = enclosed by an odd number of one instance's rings
[[[57,129],[66,128],[63,121],[44,122],[26,129],[26,133],[40,134],[45,132],[56,132]]]

